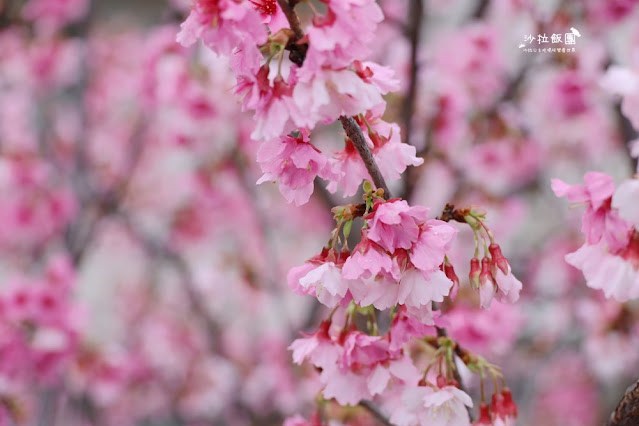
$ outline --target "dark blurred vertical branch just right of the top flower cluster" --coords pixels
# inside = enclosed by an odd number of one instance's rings
[[[411,0],[409,6],[408,24],[406,36],[410,42],[410,69],[408,91],[402,105],[402,121],[404,124],[404,142],[410,143],[413,112],[415,110],[415,97],[417,95],[419,62],[419,41],[421,36],[422,18],[424,16],[423,0]]]

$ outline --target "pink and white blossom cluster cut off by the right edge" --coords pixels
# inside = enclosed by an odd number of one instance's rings
[[[582,232],[586,242],[566,261],[580,269],[586,284],[620,302],[639,297],[639,180],[615,189],[613,179],[589,172],[585,185],[552,182],[557,196],[585,203]]]

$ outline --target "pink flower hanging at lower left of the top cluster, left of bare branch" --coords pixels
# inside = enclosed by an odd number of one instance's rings
[[[317,176],[327,177],[331,173],[328,160],[310,143],[308,135],[308,131],[302,130],[297,137],[289,135],[265,142],[257,154],[264,172],[257,183],[278,181],[286,201],[296,206],[308,202]]]

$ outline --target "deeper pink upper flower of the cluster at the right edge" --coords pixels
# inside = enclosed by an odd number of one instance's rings
[[[573,203],[587,203],[582,217],[581,230],[589,244],[603,240],[611,250],[619,250],[628,244],[631,225],[611,208],[615,184],[604,173],[588,172],[585,185],[568,185],[559,179],[552,180],[552,189],[558,197],[566,197]]]

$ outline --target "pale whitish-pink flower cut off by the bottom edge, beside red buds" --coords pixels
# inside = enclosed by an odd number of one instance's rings
[[[407,388],[390,420],[398,426],[470,426],[466,407],[472,406],[470,396],[455,386]]]

